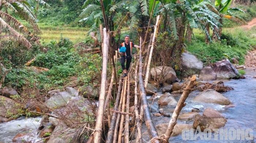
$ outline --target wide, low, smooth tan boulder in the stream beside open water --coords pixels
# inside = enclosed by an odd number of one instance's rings
[[[204,102],[204,103],[215,103],[221,105],[229,105],[230,100],[225,98],[222,94],[218,93],[215,90],[205,90],[199,95],[197,95],[194,99],[197,102]]]

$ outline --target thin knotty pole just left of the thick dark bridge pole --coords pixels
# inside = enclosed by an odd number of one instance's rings
[[[138,60],[139,61],[139,60]],[[135,68],[135,84],[134,84],[134,111],[135,111],[135,119],[136,119],[136,127],[138,131],[138,135],[136,138],[136,143],[142,143],[142,135],[141,135],[141,129],[140,129],[140,117],[139,117],[139,111],[138,111],[138,81],[137,81],[137,76],[138,76],[138,67],[139,67],[139,62],[136,64]],[[138,139],[138,140],[137,140]]]

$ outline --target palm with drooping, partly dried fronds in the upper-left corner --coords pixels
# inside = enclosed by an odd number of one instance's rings
[[[33,28],[33,34],[40,33],[39,27],[36,24],[37,18],[33,14],[33,1],[31,0],[0,0],[0,30],[7,29],[9,34],[27,48],[30,48],[32,45],[29,40],[26,39],[26,35],[31,36],[31,31],[24,26],[19,20],[12,16],[12,13],[8,13],[7,9],[13,11],[21,19],[25,19]],[[49,7],[47,3],[43,0],[34,0],[39,4]],[[5,11],[3,11],[5,9]]]

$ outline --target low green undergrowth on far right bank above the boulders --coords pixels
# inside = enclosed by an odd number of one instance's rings
[[[236,29],[236,33],[223,33],[221,42],[206,44],[204,36],[195,36],[187,50],[196,55],[205,65],[228,58],[236,57],[243,64],[247,50],[256,45],[256,42],[244,31]]]

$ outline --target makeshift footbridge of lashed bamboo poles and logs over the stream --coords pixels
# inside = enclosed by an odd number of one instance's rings
[[[158,16],[159,19],[159,16]],[[158,20],[157,20],[158,21]],[[157,22],[158,23],[158,22]],[[157,24],[155,25],[157,28]],[[153,41],[155,39],[156,32],[154,31]],[[143,136],[141,133],[141,123],[144,119],[146,123],[147,131],[150,136],[150,142],[152,143],[167,143],[172,130],[176,124],[178,115],[182,107],[185,106],[184,102],[187,99],[192,88],[196,84],[196,77],[193,76],[188,82],[184,92],[182,93],[180,100],[173,112],[172,118],[170,118],[169,126],[166,133],[158,135],[155,129],[154,123],[151,119],[151,114],[148,108],[148,102],[146,98],[145,87],[148,81],[148,71],[153,52],[153,45],[149,46],[150,54],[147,61],[147,71],[145,79],[143,79],[143,59],[142,49],[139,51],[139,58],[131,64],[128,71],[128,76],[125,78],[120,77],[118,82],[117,94],[114,101],[114,107],[110,108],[110,100],[113,99],[112,89],[114,83],[114,68],[112,68],[112,75],[110,83],[107,80],[107,61],[108,61],[108,42],[109,36],[106,32],[106,28],[103,28],[103,49],[102,49],[102,74],[101,74],[101,90],[99,95],[99,105],[96,116],[96,124],[93,135],[90,136],[89,143],[129,143],[130,140],[136,141],[136,143],[142,143]],[[140,38],[140,47],[142,40]],[[109,58],[110,59],[110,58]],[[145,68],[146,69],[146,68]],[[131,82],[133,80],[133,82]],[[144,82],[145,81],[145,82]],[[116,81],[117,82],[117,81]],[[108,86],[109,85],[109,86]],[[117,83],[116,83],[117,85]],[[106,89],[108,88],[108,89]],[[115,88],[114,88],[115,89]],[[134,90],[133,90],[134,89]],[[134,108],[130,108],[134,106]],[[108,122],[104,122],[107,119]],[[107,134],[102,135],[103,127]]]

